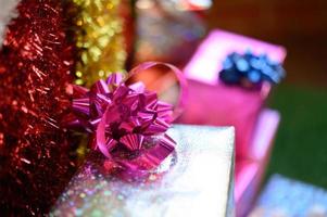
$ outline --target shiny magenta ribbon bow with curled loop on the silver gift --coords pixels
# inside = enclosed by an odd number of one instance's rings
[[[158,64],[169,67],[179,81],[180,101],[175,111],[171,104],[159,101],[155,92],[146,90],[142,82],[125,84],[129,77]],[[114,166],[138,176],[155,169],[174,151],[175,141],[165,132],[184,105],[185,86],[185,78],[175,66],[147,62],[134,68],[125,80],[121,74],[113,74],[90,90],[75,86],[73,123],[93,133],[92,148]]]

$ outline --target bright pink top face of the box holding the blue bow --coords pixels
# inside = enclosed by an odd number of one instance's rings
[[[215,85],[226,56],[232,52],[244,53],[248,50],[254,54],[265,53],[278,63],[282,63],[286,58],[286,49],[281,46],[215,29],[204,39],[184,68],[185,75],[190,79]]]

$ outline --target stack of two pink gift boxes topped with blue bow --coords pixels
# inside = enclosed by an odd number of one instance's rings
[[[238,216],[249,210],[269,157],[279,114],[264,105],[285,76],[285,58],[282,47],[213,30],[185,67],[189,102],[180,122],[236,128]]]

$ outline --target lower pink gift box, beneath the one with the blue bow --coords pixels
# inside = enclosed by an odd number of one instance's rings
[[[235,201],[237,216],[251,208],[269,159],[274,137],[279,124],[279,113],[264,110],[259,116],[249,157],[237,158],[235,171]]]

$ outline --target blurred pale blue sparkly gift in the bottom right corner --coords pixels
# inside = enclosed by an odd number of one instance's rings
[[[281,175],[274,175],[249,216],[326,217],[327,191]]]

